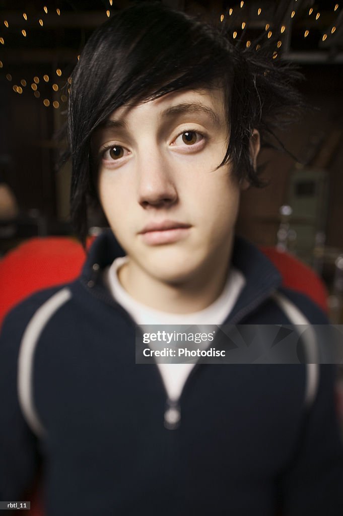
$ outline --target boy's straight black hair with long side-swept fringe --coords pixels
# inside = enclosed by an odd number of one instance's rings
[[[221,165],[230,161],[239,181],[261,186],[250,158],[252,132],[257,129],[266,144],[292,118],[300,101],[292,87],[298,76],[263,49],[234,46],[223,24],[219,29],[152,2],[113,15],[90,37],[72,74],[71,214],[81,240],[88,202],[97,198],[91,136],[114,110],[179,89],[222,85],[230,138]]]

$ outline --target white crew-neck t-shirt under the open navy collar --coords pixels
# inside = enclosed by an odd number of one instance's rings
[[[242,273],[231,267],[223,292],[209,307],[191,314],[170,314],[146,307],[125,291],[118,279],[118,271],[127,260],[126,256],[117,258],[112,265],[107,267],[104,271],[104,281],[113,298],[122,305],[138,325],[197,325],[200,332],[201,326],[206,325],[208,332],[208,325],[220,326],[223,324],[246,283]],[[150,343],[150,347],[152,344]],[[202,342],[199,344],[199,348],[201,346],[206,348],[207,343]],[[169,399],[176,401],[181,395],[194,364],[157,364],[157,366]]]

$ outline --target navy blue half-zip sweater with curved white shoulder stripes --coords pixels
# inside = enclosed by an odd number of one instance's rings
[[[79,279],[6,318],[0,500],[27,499],[41,471],[47,516],[341,516],[332,367],[308,404],[306,365],[198,364],[167,429],[157,366],[135,365],[135,324],[101,281],[122,254],[103,234]],[[290,324],[275,292],[326,324],[255,247],[236,239],[232,261],[246,286],[225,324]]]

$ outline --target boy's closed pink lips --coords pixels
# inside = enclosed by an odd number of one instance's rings
[[[139,234],[145,244],[156,246],[182,240],[188,235],[190,228],[190,224],[164,220],[146,225]]]

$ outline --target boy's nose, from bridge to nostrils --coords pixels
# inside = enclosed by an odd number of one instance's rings
[[[138,202],[143,208],[169,207],[177,201],[172,165],[159,152],[145,152],[138,160]]]

